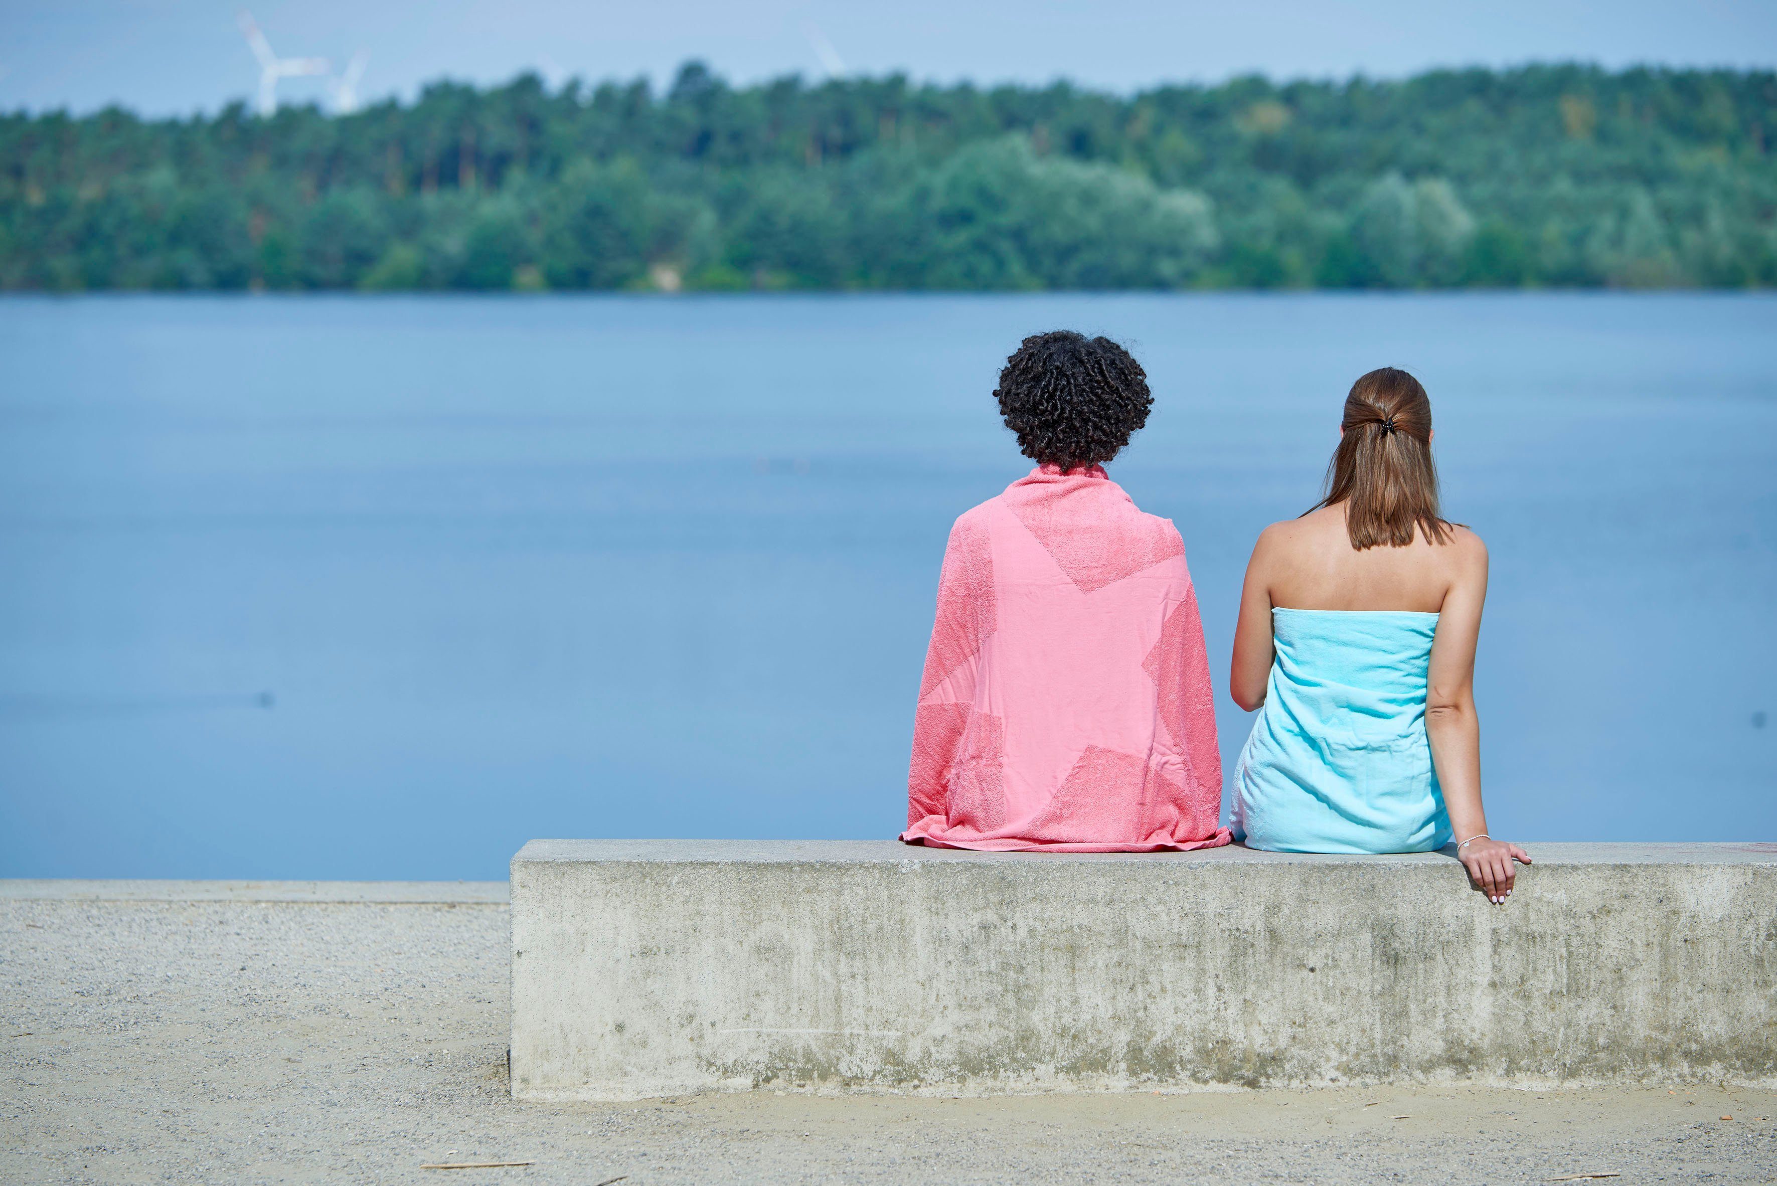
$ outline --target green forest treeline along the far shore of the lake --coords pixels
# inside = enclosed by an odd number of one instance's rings
[[[1773,137],[1770,71],[1585,66],[21,112],[0,288],[1770,286]]]

